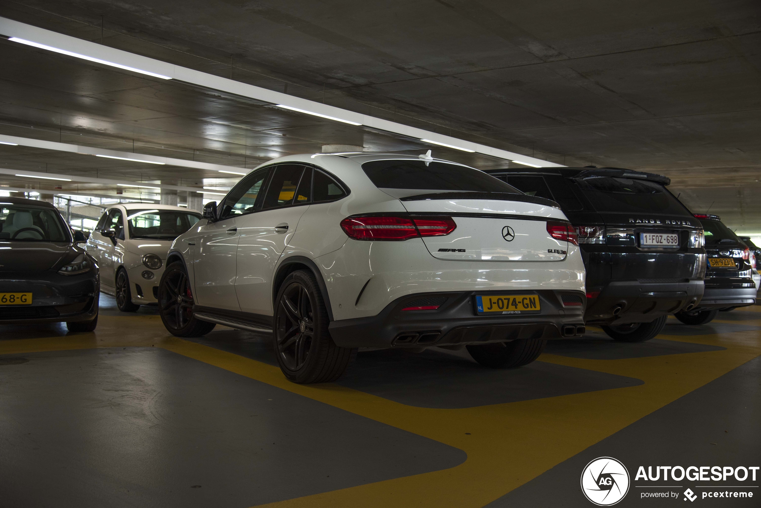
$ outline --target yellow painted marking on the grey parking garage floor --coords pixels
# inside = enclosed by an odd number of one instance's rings
[[[543,354],[541,361],[630,376],[642,379],[645,384],[477,408],[429,409],[335,384],[289,383],[277,367],[167,335],[158,316],[100,319],[93,334],[0,341],[0,354],[154,345],[467,453],[466,461],[454,468],[266,505],[278,507],[484,506],[761,354],[761,331],[690,337],[661,335],[672,341],[714,344],[727,348],[725,351],[619,360]]]

